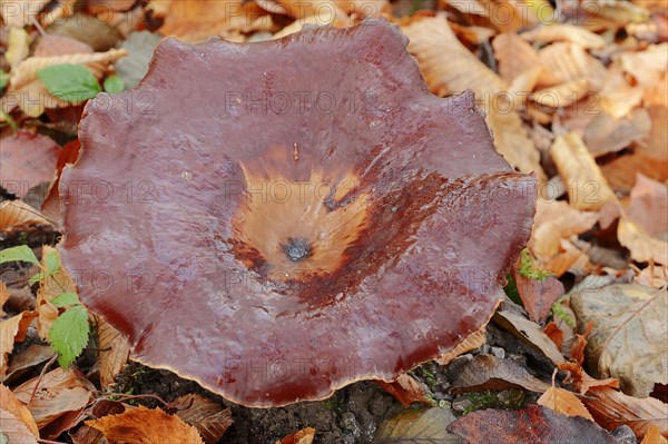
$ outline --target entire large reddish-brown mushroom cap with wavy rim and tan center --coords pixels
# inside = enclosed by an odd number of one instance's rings
[[[483,326],[536,179],[384,20],[164,40],[63,175],[63,266],[135,359],[247,406],[391,381]]]

